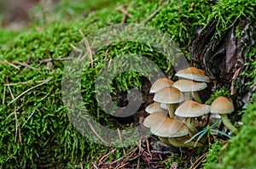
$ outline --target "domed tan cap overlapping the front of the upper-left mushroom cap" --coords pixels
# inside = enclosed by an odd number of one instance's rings
[[[177,104],[184,101],[184,96],[176,87],[164,87],[154,94],[153,100],[163,104]]]

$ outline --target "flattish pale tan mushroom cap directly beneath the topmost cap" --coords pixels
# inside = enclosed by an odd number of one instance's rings
[[[176,87],[181,92],[197,92],[207,87],[205,82],[194,82],[190,80],[179,80],[172,84],[172,87]]]

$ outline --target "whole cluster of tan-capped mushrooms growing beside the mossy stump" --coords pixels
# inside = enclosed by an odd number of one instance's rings
[[[189,67],[177,71],[175,76],[181,80],[172,82],[171,79],[160,78],[150,88],[149,93],[154,93],[154,103],[146,107],[150,115],[143,121],[143,125],[148,127],[150,132],[165,144],[186,148],[199,147],[206,144],[207,138],[202,137],[197,144],[195,140],[186,141],[218,115],[225,127],[237,133],[236,127],[227,117],[227,114],[234,110],[234,105],[229,99],[218,97],[211,105],[202,103],[198,92],[205,89],[207,82],[210,82],[203,70]],[[209,117],[207,122],[200,121],[204,116]]]

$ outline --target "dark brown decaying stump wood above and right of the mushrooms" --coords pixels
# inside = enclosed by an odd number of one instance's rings
[[[247,63],[246,54],[254,45],[253,36],[249,27],[255,27],[252,20],[236,21],[220,36],[214,37],[217,32],[217,21],[211,20],[207,27],[193,42],[190,57],[193,65],[206,71],[207,76],[218,87],[230,89],[231,97],[237,100],[236,105],[241,107],[242,98],[247,95],[247,88],[235,85],[243,85],[247,80],[241,76]],[[236,36],[236,31],[241,30],[241,36]]]

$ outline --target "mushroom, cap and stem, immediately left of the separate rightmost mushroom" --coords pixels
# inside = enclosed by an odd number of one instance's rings
[[[189,127],[189,131],[194,135],[198,130],[195,127],[195,121],[192,118],[200,117],[202,115],[208,114],[210,111],[210,106],[207,104],[199,104],[193,100],[187,100],[181,104],[177,110],[175,110],[175,115],[181,117],[187,117],[185,121],[186,125]]]

